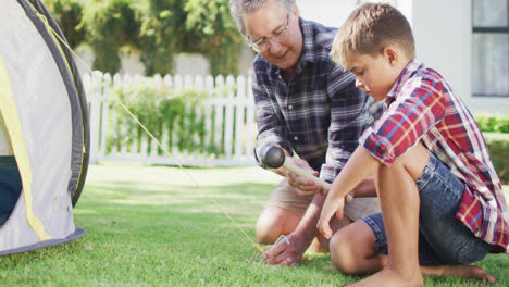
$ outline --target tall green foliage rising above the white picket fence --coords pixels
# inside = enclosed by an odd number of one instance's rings
[[[227,0],[46,0],[71,43],[91,46],[92,68],[111,74],[122,49],[137,50],[147,75],[171,74],[174,57],[201,53],[211,74],[238,74],[244,40]]]

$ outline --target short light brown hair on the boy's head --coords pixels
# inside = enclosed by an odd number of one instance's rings
[[[388,45],[398,46],[409,59],[415,57],[412,29],[396,8],[367,3],[356,9],[337,32],[331,50],[332,60],[347,65],[352,57],[376,55]]]

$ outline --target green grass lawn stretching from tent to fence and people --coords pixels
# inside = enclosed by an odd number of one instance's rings
[[[187,177],[197,178],[195,186]],[[254,224],[278,177],[259,167],[91,165],[75,209],[87,235],[67,245],[0,258],[1,286],[343,286],[328,254],[297,267],[248,263]],[[509,199],[509,186],[505,186]],[[215,200],[220,208],[212,201]],[[509,286],[509,258],[479,265]],[[425,278],[426,286],[476,285]]]

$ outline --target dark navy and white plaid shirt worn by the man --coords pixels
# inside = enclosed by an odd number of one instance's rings
[[[333,182],[382,104],[373,104],[356,88],[353,75],[332,62],[328,53],[336,29],[299,22],[302,52],[288,85],[282,70],[260,54],[253,62],[256,153],[280,145],[307,160],[321,178]]]

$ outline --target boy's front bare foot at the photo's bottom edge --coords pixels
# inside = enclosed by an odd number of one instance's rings
[[[353,285],[353,287],[360,286],[423,286],[421,273],[415,274],[412,278],[404,278],[400,274],[389,269],[383,269],[382,271],[369,276],[368,278],[360,280]]]

